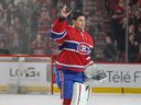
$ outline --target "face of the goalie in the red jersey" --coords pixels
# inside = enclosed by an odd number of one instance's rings
[[[85,16],[78,16],[77,20],[74,22],[74,25],[78,30],[85,28]]]

